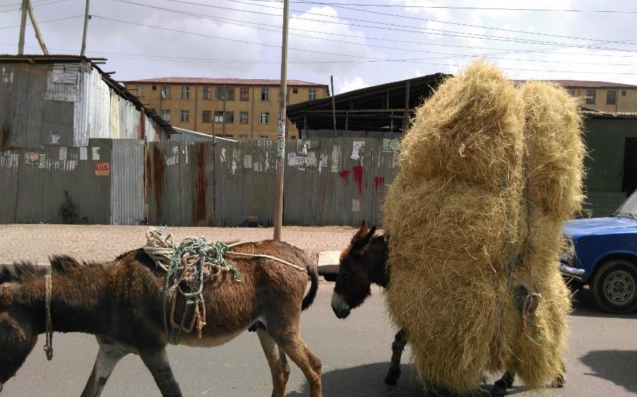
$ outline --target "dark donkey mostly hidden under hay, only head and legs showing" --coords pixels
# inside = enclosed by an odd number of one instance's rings
[[[345,319],[352,309],[359,307],[371,295],[372,283],[387,288],[390,281],[390,267],[387,266],[388,243],[385,235],[375,235],[376,226],[367,229],[363,221],[347,249],[341,253],[336,285],[331,298],[331,308],[339,319]],[[400,358],[407,344],[407,330],[396,333],[392,343],[390,368],[385,377],[386,384],[397,384],[400,376]],[[504,394],[511,388],[515,374],[507,371],[493,386],[494,394]],[[552,383],[561,387],[564,377],[560,375]]]

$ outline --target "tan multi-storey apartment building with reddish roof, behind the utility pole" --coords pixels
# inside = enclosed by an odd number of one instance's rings
[[[174,127],[238,140],[276,139],[279,80],[245,78],[150,78],[126,89]],[[329,96],[327,85],[288,80],[287,103]],[[288,139],[299,132],[287,121]]]

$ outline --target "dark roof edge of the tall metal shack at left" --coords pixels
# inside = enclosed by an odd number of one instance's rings
[[[53,62],[55,63],[79,63],[79,62],[89,63],[91,67],[93,67],[93,69],[97,70],[100,73],[100,75],[102,75],[102,80],[104,81],[104,83],[106,83],[110,88],[112,88],[117,95],[119,95],[123,99],[126,99],[128,102],[131,102],[132,104],[134,104],[139,111],[144,111],[144,113],[146,113],[146,116],[155,120],[156,123],[158,123],[165,132],[168,132],[168,133],[174,132],[172,125],[170,125],[170,123],[168,123],[166,120],[161,118],[161,116],[159,116],[159,114],[155,111],[155,109],[149,109],[146,106],[144,106],[142,102],[140,102],[139,99],[135,97],[135,95],[132,95],[130,92],[128,92],[128,90],[126,90],[126,88],[123,85],[115,81],[114,78],[112,78],[109,74],[102,71],[102,69],[100,69],[100,67],[97,66],[97,64],[103,64],[104,62],[106,62],[106,60],[107,60],[106,58],[83,57],[81,55],[8,55],[8,54],[0,55],[0,64],[10,64],[10,63],[18,63],[18,62],[25,62],[30,64],[34,64],[34,63],[46,64],[46,63],[53,63]]]

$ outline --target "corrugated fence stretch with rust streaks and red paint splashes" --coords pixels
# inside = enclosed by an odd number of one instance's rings
[[[288,141],[284,223],[377,223],[396,152],[394,139]],[[151,224],[237,226],[256,216],[272,225],[274,142],[152,142],[147,153]]]

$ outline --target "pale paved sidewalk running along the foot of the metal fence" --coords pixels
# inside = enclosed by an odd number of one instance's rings
[[[112,260],[120,253],[146,243],[148,226],[121,225],[0,225],[0,263],[32,260],[48,265],[48,256],[68,254],[84,260]],[[259,241],[271,239],[272,228],[177,228],[169,227],[179,241],[188,236],[208,241]],[[355,228],[346,226],[287,226],[282,240],[306,251],[321,266],[335,272],[341,250],[348,246]],[[336,266],[335,266],[336,265]]]

